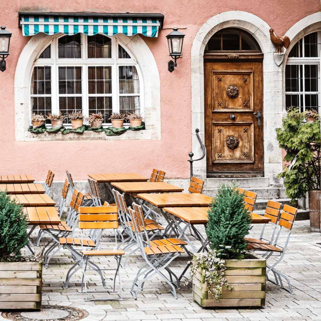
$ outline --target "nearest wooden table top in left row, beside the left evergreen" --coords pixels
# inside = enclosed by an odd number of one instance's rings
[[[57,225],[61,223],[56,207],[25,207],[23,212],[28,215],[27,222],[30,225]]]

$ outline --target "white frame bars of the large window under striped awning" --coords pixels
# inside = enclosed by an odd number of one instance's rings
[[[81,56],[82,58],[58,58],[58,39],[64,37],[64,34],[59,34],[59,36],[52,39],[49,43],[47,43],[37,55],[35,59],[32,70],[30,73],[30,87],[31,87],[31,77],[33,73],[33,69],[36,66],[50,66],[51,67],[51,95],[46,95],[47,97],[51,97],[51,112],[54,114],[59,114],[59,93],[58,93],[58,67],[59,66],[81,66],[82,67],[82,94],[77,94],[77,96],[82,96],[82,111],[85,117],[89,116],[89,106],[88,106],[88,97],[90,96],[98,96],[99,94],[88,94],[88,66],[111,66],[112,69],[112,106],[113,112],[119,112],[119,97],[123,96],[119,94],[119,81],[118,81],[118,67],[119,66],[135,66],[139,78],[139,94],[126,94],[125,96],[139,96],[140,98],[140,113],[144,113],[144,85],[143,85],[143,75],[139,68],[139,65],[134,58],[118,58],[118,45],[126,50],[126,52],[134,57],[133,53],[126,48],[120,41],[118,41],[115,37],[108,37],[111,40],[111,58],[88,58],[87,51],[87,35],[81,34]],[[51,58],[39,58],[41,53],[49,46],[50,47],[50,56]],[[30,90],[30,100],[29,100],[29,121],[31,121],[31,97],[37,95],[31,95]],[[68,96],[68,94],[64,94],[63,96]],[[75,94],[70,94],[70,96],[74,97]],[[106,95],[108,96],[108,95]],[[105,127],[108,127],[111,122],[103,124]],[[129,126],[130,124],[124,124],[124,126]],[[50,125],[48,125],[50,126]],[[65,127],[71,127],[71,124],[64,124]]]

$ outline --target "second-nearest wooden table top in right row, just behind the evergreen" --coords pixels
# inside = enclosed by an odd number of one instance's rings
[[[212,198],[198,193],[180,194],[138,194],[139,198],[151,203],[159,208],[163,207],[183,207],[183,206],[209,206]]]

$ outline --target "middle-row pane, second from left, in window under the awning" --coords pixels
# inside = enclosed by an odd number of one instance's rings
[[[82,93],[82,67],[58,67],[59,94]]]

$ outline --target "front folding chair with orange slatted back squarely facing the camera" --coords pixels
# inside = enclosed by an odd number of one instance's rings
[[[82,269],[83,269],[83,282],[82,285],[85,285],[85,301],[92,301],[92,300],[122,300],[122,288],[121,288],[121,280],[119,275],[119,266],[121,262],[122,256],[125,254],[122,250],[117,250],[117,237],[116,237],[116,229],[118,228],[118,214],[117,214],[117,207],[116,206],[98,206],[98,207],[79,207],[79,229],[81,230],[81,251],[82,254]],[[87,241],[83,239],[83,230],[85,229],[94,229],[100,230],[99,236],[96,240],[97,244],[95,248],[91,248],[85,250],[85,244]],[[115,244],[114,248],[103,248],[99,245],[99,240],[101,238],[102,232],[105,229],[114,229],[115,231]],[[88,248],[88,247],[87,247]],[[117,267],[114,269],[101,269],[97,265],[94,265],[98,268],[97,272],[106,271],[106,270],[113,270],[115,271],[114,275],[114,288],[113,291],[102,290],[102,291],[87,291],[87,284],[86,284],[86,268],[87,265],[93,265],[90,261],[92,257],[98,256],[114,256],[117,262]],[[97,293],[97,292],[115,292],[115,282],[116,276],[118,274],[119,278],[119,286],[120,286],[120,299],[119,298],[100,298],[100,299],[88,299],[87,293]],[[106,287],[106,286],[105,286]]]

